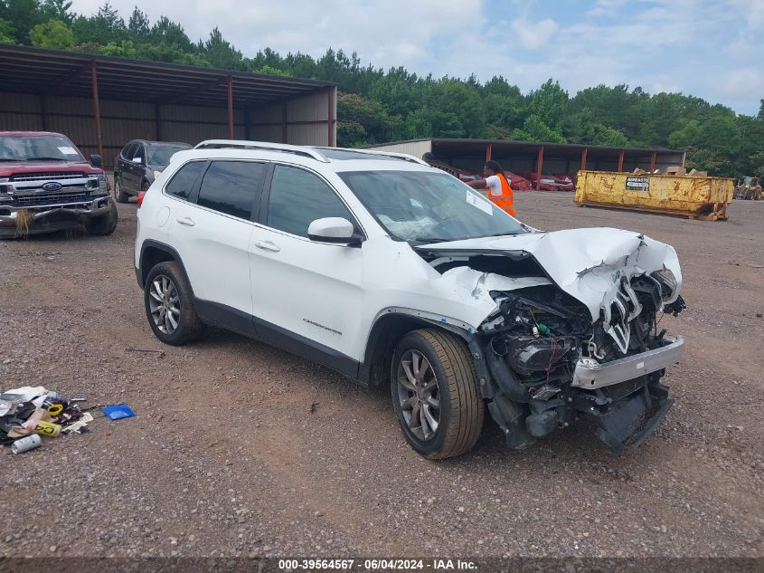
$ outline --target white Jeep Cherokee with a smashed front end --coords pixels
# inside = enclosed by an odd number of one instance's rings
[[[486,405],[511,447],[586,414],[619,453],[673,404],[671,246],[537,231],[409,156],[203,142],[143,197],[135,257],[158,339],[213,324],[390,387],[429,458],[469,451]]]

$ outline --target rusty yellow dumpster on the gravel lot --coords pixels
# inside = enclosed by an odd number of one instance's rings
[[[634,209],[691,219],[727,220],[733,179],[579,171],[576,205]]]

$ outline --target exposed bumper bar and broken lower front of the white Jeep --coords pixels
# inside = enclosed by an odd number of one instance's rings
[[[580,358],[567,387],[521,382],[504,357],[474,341],[470,345],[488,409],[505,432],[507,445],[522,449],[580,415],[599,423],[597,436],[614,454],[637,447],[652,435],[674,400],[660,383],[665,368],[682,358],[684,339],[664,337],[665,345],[627,358],[599,363]],[[485,360],[482,358],[485,357]],[[546,391],[548,390],[548,391]]]

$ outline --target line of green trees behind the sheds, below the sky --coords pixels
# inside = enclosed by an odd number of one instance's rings
[[[413,138],[505,138],[679,148],[688,167],[713,175],[764,176],[764,100],[756,117],[682,93],[599,85],[571,96],[557,81],[523,94],[502,76],[481,83],[403,67],[362,65],[331,48],[320,58],[264,48],[245,57],[215,27],[193,42],[182,25],[152,23],[136,8],[127,22],[106,2],[92,15],[67,0],[0,0],[0,43],[335,81],[337,143],[356,147]]]

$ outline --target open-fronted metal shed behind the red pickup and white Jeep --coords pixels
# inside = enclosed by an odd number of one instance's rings
[[[4,44],[0,130],[64,133],[108,167],[134,138],[332,147],[336,85]]]

